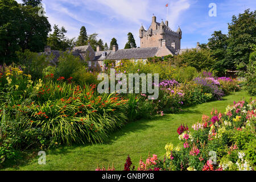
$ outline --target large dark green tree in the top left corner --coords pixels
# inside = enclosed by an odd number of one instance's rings
[[[51,24],[38,11],[14,0],[0,1],[0,64],[15,62],[19,50],[43,51]]]

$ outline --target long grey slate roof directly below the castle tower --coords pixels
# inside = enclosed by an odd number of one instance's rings
[[[146,59],[148,57],[154,57],[158,50],[158,47],[118,49],[116,52],[110,52],[109,56],[107,56],[106,59]]]

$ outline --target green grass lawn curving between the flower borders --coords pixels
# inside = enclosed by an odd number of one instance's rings
[[[168,114],[164,117],[156,117],[152,120],[141,120],[128,123],[121,130],[113,133],[108,142],[104,144],[88,144],[83,146],[67,146],[46,152],[46,165],[39,165],[38,158],[15,168],[6,170],[95,170],[97,164],[114,162],[115,168],[122,170],[127,155],[129,154],[135,167],[138,167],[139,159],[145,160],[148,151],[163,158],[164,146],[168,142],[175,145],[179,142],[176,132],[180,123],[187,123],[191,129],[193,123],[201,119],[202,114],[208,114],[214,107],[224,111],[225,107],[234,101],[250,96],[245,91],[234,93],[224,97],[223,101],[208,102],[184,109],[181,114]],[[255,97],[254,97],[255,98]]]

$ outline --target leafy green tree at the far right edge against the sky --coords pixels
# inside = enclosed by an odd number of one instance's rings
[[[248,64],[253,45],[256,44],[256,10],[245,10],[243,14],[233,15],[232,23],[228,23],[228,59],[234,64]],[[233,69],[236,69],[233,67]]]

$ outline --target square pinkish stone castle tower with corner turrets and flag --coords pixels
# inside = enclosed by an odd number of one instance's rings
[[[172,31],[168,25],[167,20],[166,23],[164,23],[163,20],[161,23],[156,22],[156,16],[153,15],[148,30],[145,30],[143,26],[139,29],[141,48],[166,46],[179,50],[182,31],[180,27],[176,32]]]

